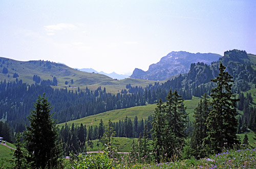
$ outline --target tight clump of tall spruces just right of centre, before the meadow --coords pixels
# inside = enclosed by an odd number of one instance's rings
[[[159,100],[153,117],[153,149],[155,157],[160,160],[179,157],[186,138],[186,112],[183,99],[177,90],[169,90],[166,104]]]

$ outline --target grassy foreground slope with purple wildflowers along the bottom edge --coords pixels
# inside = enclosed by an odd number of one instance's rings
[[[96,155],[79,155],[68,168],[255,168],[255,149],[223,150],[208,158],[186,159],[165,163],[137,163],[130,155],[111,158],[108,152]]]

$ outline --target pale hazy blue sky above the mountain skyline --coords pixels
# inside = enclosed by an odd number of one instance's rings
[[[256,1],[0,0],[0,57],[132,74],[172,51],[256,54]]]

